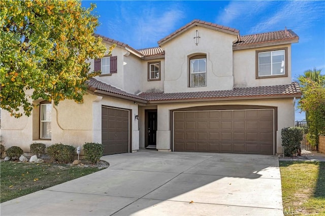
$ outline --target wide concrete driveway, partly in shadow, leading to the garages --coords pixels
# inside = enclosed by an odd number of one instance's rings
[[[1,215],[283,215],[278,157],[156,152],[1,204]]]

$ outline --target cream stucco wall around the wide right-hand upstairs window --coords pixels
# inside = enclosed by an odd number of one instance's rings
[[[256,79],[256,50],[288,48],[288,76]],[[280,45],[234,51],[234,87],[275,86],[291,83],[291,45]]]

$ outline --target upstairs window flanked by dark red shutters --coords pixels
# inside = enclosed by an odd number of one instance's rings
[[[94,59],[94,71],[101,70],[101,75],[117,73],[117,56]]]

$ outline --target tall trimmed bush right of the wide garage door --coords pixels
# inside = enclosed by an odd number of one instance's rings
[[[284,147],[284,156],[293,157],[299,153],[300,142],[304,138],[304,128],[286,127],[281,130],[282,146]]]

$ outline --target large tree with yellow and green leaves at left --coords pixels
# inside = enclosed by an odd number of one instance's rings
[[[83,102],[89,78],[87,59],[106,48],[94,37],[98,17],[80,1],[1,1],[1,108],[29,116],[31,99]],[[108,52],[111,52],[111,47]],[[26,91],[32,92],[29,95]]]

